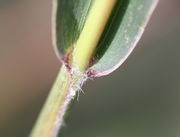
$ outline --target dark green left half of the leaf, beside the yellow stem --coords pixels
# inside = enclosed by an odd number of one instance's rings
[[[78,39],[94,0],[54,0],[53,46],[63,57]]]

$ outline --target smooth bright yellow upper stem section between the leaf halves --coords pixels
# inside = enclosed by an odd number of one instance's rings
[[[73,52],[73,67],[86,70],[117,0],[95,0]]]

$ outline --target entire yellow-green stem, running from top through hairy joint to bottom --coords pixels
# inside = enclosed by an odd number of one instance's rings
[[[63,117],[84,82],[93,52],[117,0],[94,0],[72,53],[72,73],[62,65],[30,137],[56,137]]]

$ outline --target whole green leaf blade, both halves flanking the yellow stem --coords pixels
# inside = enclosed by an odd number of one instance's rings
[[[73,67],[71,63],[77,41],[95,2],[96,0],[54,0],[53,45],[60,60],[70,68]],[[144,32],[158,0],[116,2],[95,52],[91,60],[87,60],[87,71],[95,77],[108,75],[127,59]],[[86,47],[88,44],[83,45]],[[84,49],[81,52],[84,52]]]

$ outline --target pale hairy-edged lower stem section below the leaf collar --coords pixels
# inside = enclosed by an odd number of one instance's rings
[[[73,89],[75,85],[72,85],[71,80],[70,73],[62,65],[30,137],[55,137],[57,135],[63,124],[65,112],[76,95],[76,89]]]

